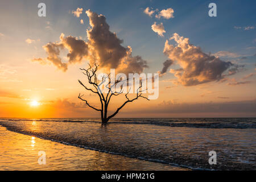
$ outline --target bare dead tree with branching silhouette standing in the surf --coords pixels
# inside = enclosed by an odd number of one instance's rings
[[[92,109],[94,110],[97,110],[97,111],[100,111],[101,112],[101,122],[102,123],[107,123],[109,121],[109,119],[113,118],[115,115],[117,115],[117,113],[119,112],[119,110],[121,110],[127,103],[129,102],[133,102],[135,100],[137,100],[139,97],[142,97],[142,98],[146,98],[146,100],[148,100],[147,97],[144,97],[142,96],[142,92],[144,90],[141,90],[142,88],[142,83],[141,85],[139,86],[139,88],[137,89],[137,95],[135,98],[133,99],[130,99],[127,94],[129,94],[129,92],[127,92],[125,94],[125,98],[126,98],[126,101],[123,102],[123,104],[121,106],[119,106],[117,108],[117,110],[115,110],[115,112],[111,115],[108,115],[108,106],[109,106],[109,102],[111,100],[111,98],[113,96],[118,96],[119,94],[122,94],[123,93],[123,87],[121,86],[120,88],[120,91],[119,92],[116,92],[112,90],[113,86],[117,85],[118,82],[121,82],[121,81],[127,81],[127,80],[121,80],[121,79],[117,79],[114,81],[114,83],[111,83],[110,82],[110,77],[108,75],[108,78],[109,78],[109,83],[107,84],[106,88],[108,88],[108,92],[107,93],[102,93],[101,92],[101,89],[100,89],[100,85],[103,84],[105,81],[106,81],[106,77],[102,77],[102,80],[99,82],[97,80],[97,75],[96,75],[96,72],[98,70],[98,67],[99,65],[95,65],[95,68],[93,69],[90,64],[89,64],[89,68],[88,69],[81,69],[80,70],[82,71],[82,73],[88,78],[88,83],[90,85],[92,85],[93,88],[88,88],[87,86],[85,86],[80,80],[79,80],[79,83],[86,89],[86,90],[89,90],[90,92],[92,93],[95,93],[97,94],[98,98],[100,99],[100,103],[101,103],[101,107],[100,108],[97,108],[95,106],[92,106],[89,104],[89,102],[87,100],[85,100],[84,98],[82,98],[82,96],[84,95],[81,95],[79,93],[79,99],[84,101],[86,105],[88,105],[89,107],[91,107]]]

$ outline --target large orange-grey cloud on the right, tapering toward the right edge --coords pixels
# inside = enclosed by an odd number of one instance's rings
[[[218,57],[204,53],[200,47],[190,44],[188,38],[183,38],[177,33],[170,38],[172,39],[175,40],[177,46],[169,44],[166,40],[163,52],[170,59],[177,61],[182,68],[179,71],[171,71],[177,77],[177,83],[184,86],[221,80],[222,73],[233,65],[229,61],[225,62]]]

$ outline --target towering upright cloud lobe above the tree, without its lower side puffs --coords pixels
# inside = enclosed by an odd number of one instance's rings
[[[92,62],[100,62],[103,67],[117,68],[129,48],[121,46],[123,40],[117,34],[110,32],[104,15],[98,15],[90,10],[86,11],[92,27],[87,30],[89,46],[92,48]]]

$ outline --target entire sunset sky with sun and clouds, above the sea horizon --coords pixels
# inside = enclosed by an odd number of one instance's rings
[[[38,16],[38,4],[46,16]],[[209,3],[217,16],[210,17]],[[1,1],[0,117],[100,117],[79,68],[159,73],[117,117],[256,117],[254,1]],[[132,97],[132,96],[131,96]],[[125,96],[111,101],[115,111]]]

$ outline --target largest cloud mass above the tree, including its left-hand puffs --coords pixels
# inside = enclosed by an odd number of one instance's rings
[[[46,60],[51,62],[62,71],[67,71],[68,64],[81,63],[83,59],[89,60],[90,64],[100,64],[100,68],[115,68],[123,73],[141,73],[147,68],[147,62],[141,56],[132,56],[130,46],[123,47],[123,40],[117,34],[109,30],[104,15],[98,15],[90,10],[86,11],[89,17],[91,28],[86,30],[88,41],[75,38],[73,36],[64,37],[60,35],[60,41],[48,43],[43,48],[48,57]],[[68,49],[68,63],[61,62],[60,49]],[[45,63],[43,58],[33,59]]]

